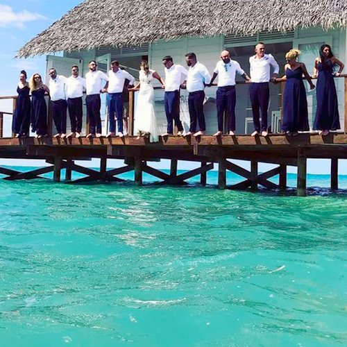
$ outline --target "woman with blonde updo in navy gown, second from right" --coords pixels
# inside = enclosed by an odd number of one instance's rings
[[[303,62],[298,62],[297,58],[301,51],[291,49],[285,55],[287,64],[285,65],[285,91],[283,93],[283,122],[282,130],[288,135],[297,135],[298,131],[310,130],[308,125],[307,99],[303,75],[310,84],[310,89],[314,89],[310,75]]]

